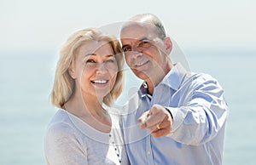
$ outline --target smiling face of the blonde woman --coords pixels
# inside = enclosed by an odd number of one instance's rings
[[[118,72],[117,60],[110,43],[90,41],[77,51],[73,78],[77,92],[102,100],[111,89]]]

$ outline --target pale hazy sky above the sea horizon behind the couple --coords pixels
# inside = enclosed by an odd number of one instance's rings
[[[57,50],[74,31],[155,14],[183,48],[254,48],[254,0],[1,0],[1,52]]]

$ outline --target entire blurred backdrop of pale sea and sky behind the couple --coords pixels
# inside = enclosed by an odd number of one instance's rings
[[[230,106],[224,165],[255,164],[256,2],[0,1],[0,164],[46,164],[44,133],[58,52],[67,37],[87,27],[152,13],[183,52],[192,71],[207,72],[223,86]],[[125,103],[141,83],[127,71]]]

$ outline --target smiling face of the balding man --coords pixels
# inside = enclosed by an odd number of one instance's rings
[[[166,46],[156,27],[149,24],[132,24],[121,31],[125,60],[134,74],[147,82],[163,71],[166,63]]]

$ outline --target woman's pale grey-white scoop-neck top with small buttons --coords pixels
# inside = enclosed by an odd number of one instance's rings
[[[110,133],[90,127],[66,110],[57,111],[44,137],[47,164],[120,164],[119,160],[121,164],[129,164],[119,128],[118,111],[112,108],[107,108],[107,111],[112,120]]]

